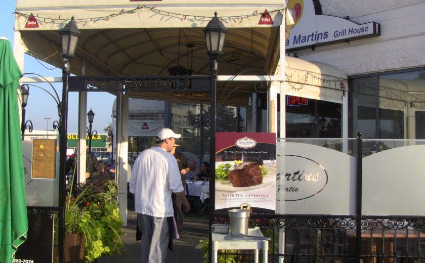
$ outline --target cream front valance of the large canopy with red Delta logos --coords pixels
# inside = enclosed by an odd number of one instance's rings
[[[214,12],[218,12],[226,27],[243,28],[279,26],[285,4],[275,0],[261,5],[258,1],[239,0],[214,3],[194,0],[114,0],[107,3],[19,0],[16,9],[16,30],[58,30],[71,17],[75,18],[80,29],[205,27]],[[263,16],[266,10],[268,15]],[[31,14],[33,17],[30,17]],[[38,26],[28,27],[28,19],[33,22],[35,19]]]

